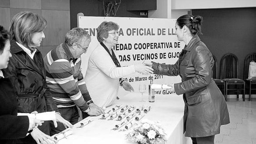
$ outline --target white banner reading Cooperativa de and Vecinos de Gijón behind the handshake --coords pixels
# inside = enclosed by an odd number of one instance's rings
[[[93,49],[99,44],[97,40],[97,27],[103,21],[112,21],[120,26],[118,44],[115,45],[115,54],[119,58],[121,66],[128,66],[143,61],[154,61],[158,63],[174,64],[185,43],[179,42],[175,35],[176,19],[157,18],[128,18],[128,17],[79,17],[79,27],[86,29],[92,41],[86,54],[81,56],[82,73],[85,76],[88,59]],[[132,74],[125,79],[133,86],[135,93],[139,93],[139,84],[148,84],[153,79],[155,84],[178,83],[179,76],[169,77],[163,75]],[[146,93],[148,89],[146,90]],[[126,95],[123,88],[119,89],[119,97]],[[170,95],[168,90],[155,90],[155,94]]]

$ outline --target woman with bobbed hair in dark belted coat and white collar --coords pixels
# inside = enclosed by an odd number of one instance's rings
[[[10,77],[18,95],[18,112],[38,113],[55,111],[56,120],[72,127],[63,119],[47,88],[45,67],[41,52],[36,49],[45,38],[43,30],[46,20],[31,12],[20,12],[11,20],[11,53],[8,68],[3,70],[5,77]],[[55,127],[57,122],[54,121]],[[34,129],[26,138],[19,139],[20,143],[48,143],[49,121]]]

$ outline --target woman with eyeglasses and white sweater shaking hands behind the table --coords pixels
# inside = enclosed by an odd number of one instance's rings
[[[118,43],[119,26],[114,22],[102,22],[97,29],[99,45],[91,53],[85,81],[88,91],[100,107],[107,107],[117,99],[119,86],[127,91],[133,87],[122,77],[135,72],[151,74],[152,68],[143,64],[121,67],[113,47]]]

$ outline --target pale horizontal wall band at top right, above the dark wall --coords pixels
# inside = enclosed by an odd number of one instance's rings
[[[256,7],[256,0],[170,0],[172,10]],[[158,1],[157,1],[158,2]]]

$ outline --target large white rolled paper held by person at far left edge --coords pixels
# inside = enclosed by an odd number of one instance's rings
[[[17,116],[28,116],[29,118],[35,118],[41,121],[56,120],[55,111],[47,111],[43,113],[18,113]]]

